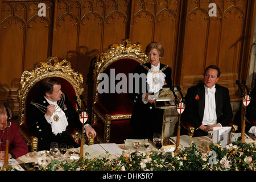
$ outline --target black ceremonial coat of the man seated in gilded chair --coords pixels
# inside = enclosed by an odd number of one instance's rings
[[[36,98],[33,102],[43,106],[49,105],[43,96]],[[65,95],[64,105],[61,106],[60,103],[58,103],[58,105],[67,117],[67,128],[82,129],[79,114],[70,104],[67,95]],[[77,147],[77,143],[73,140],[71,134],[68,133],[68,130],[61,134],[54,135],[52,133],[52,127],[47,122],[44,114],[45,113],[40,111],[38,107],[32,104],[28,105],[26,110],[26,125],[29,127],[31,134],[38,138],[38,150],[49,150],[51,142],[58,142],[59,144],[66,143],[67,145],[72,144],[74,147]]]

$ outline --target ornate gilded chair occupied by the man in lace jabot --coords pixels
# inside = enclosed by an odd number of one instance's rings
[[[24,71],[21,77],[18,89],[19,101],[19,129],[26,142],[30,145],[31,151],[35,152],[38,148],[38,138],[31,135],[26,125],[26,107],[39,94],[40,82],[47,77],[55,77],[61,81],[61,90],[67,94],[69,101],[74,108],[77,108],[73,96],[78,96],[77,101],[80,103],[79,96],[84,91],[82,87],[83,78],[78,72],[74,72],[71,63],[67,60],[59,61],[57,57],[49,57],[46,62],[36,63],[34,70]],[[82,130],[82,129],[81,129]],[[75,127],[68,126],[68,131],[73,138],[79,143],[79,133],[81,130],[75,130]],[[84,134],[82,134],[85,137]],[[90,144],[94,143],[93,139],[86,139]]]

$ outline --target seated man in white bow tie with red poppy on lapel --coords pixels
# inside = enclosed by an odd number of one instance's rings
[[[229,90],[217,83],[220,68],[210,65],[204,72],[204,83],[192,86],[185,96],[181,119],[195,127],[194,137],[208,134],[208,127],[228,126],[233,117]],[[181,134],[187,131],[181,127]]]

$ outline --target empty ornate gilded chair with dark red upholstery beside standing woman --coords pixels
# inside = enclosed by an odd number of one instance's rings
[[[131,133],[130,117],[134,103],[129,99],[128,91],[127,93],[116,92],[115,85],[119,81],[115,80],[115,76],[118,73],[125,74],[127,78],[125,83],[129,90],[129,73],[133,73],[137,65],[147,63],[147,60],[142,45],[139,43],[131,45],[130,40],[127,39],[122,39],[120,44],[110,45],[108,51],[102,52],[97,57],[93,70],[92,106],[92,126],[97,132],[95,142],[123,143],[123,140],[129,137]],[[105,85],[109,88],[109,93],[101,93],[98,90],[101,74],[106,74],[109,77],[109,85]],[[113,81],[111,79],[114,79],[114,82],[111,82]],[[114,89],[114,93],[110,93],[110,89]]]

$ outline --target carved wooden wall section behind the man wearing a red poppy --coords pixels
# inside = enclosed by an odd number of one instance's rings
[[[251,2],[214,1],[217,16],[209,16],[209,3],[187,3],[180,85],[186,92],[188,87],[202,81],[208,65],[216,64],[221,69],[218,84],[228,87],[230,95],[236,97],[236,80],[242,79],[240,75],[245,69],[243,46],[251,39],[246,34],[246,17],[250,12],[247,7]]]

